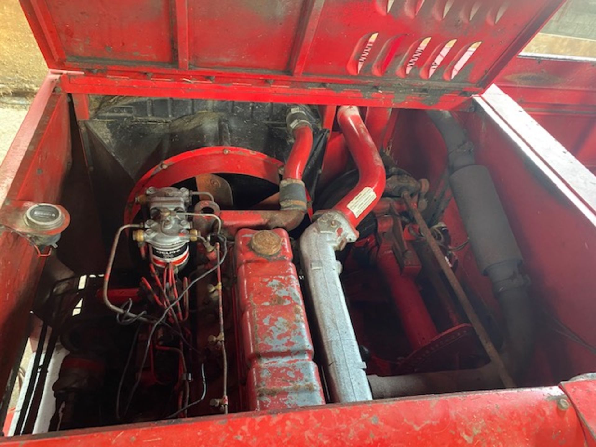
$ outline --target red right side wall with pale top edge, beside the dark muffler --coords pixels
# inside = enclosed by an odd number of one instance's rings
[[[595,344],[585,312],[596,289],[594,176],[496,86],[476,103],[477,113],[467,115],[468,135],[499,196],[509,198],[503,207],[533,278],[531,293],[547,315]],[[489,150],[493,145],[501,150]],[[584,347],[552,334],[545,334],[545,349],[555,380],[596,370]]]

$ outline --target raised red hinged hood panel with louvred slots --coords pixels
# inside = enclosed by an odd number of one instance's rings
[[[21,0],[48,66],[395,92],[486,88],[564,0]],[[222,82],[226,80],[226,82]],[[248,80],[248,81],[247,81]]]

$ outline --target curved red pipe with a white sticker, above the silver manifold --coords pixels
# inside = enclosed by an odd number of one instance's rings
[[[358,184],[333,208],[342,212],[354,227],[374,208],[385,189],[385,168],[378,149],[362,122],[358,108],[343,105],[337,111],[337,122],[347,148],[358,167]]]

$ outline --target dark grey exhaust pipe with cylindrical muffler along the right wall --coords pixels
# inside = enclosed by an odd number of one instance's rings
[[[449,112],[428,114],[445,139],[449,184],[478,268],[491,279],[501,305],[507,330],[504,356],[519,377],[530,358],[535,329],[527,280],[520,273],[522,253],[488,169],[474,164],[474,147],[464,130]]]

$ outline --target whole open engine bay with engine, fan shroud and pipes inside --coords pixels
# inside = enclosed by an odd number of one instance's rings
[[[91,99],[10,434],[554,380],[461,120]]]

